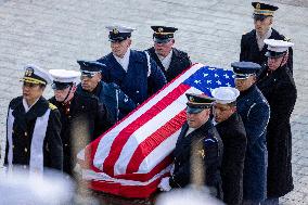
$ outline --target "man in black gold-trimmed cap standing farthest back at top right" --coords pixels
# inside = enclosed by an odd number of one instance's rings
[[[240,61],[258,63],[264,66],[267,63],[265,56],[267,44],[265,39],[287,40],[283,35],[273,29],[273,14],[279,8],[267,3],[253,2],[255,29],[242,36]],[[293,50],[288,49],[287,66],[293,73]]]

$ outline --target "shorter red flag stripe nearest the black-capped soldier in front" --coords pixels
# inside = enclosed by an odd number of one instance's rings
[[[143,159],[164,140],[179,130],[185,119],[185,112],[182,111],[159,129],[157,129],[154,133],[152,133],[149,138],[146,138],[146,140],[141,142],[131,156],[129,164],[127,165],[126,172],[137,172]]]

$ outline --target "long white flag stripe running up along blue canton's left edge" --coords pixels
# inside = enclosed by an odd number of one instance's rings
[[[129,115],[125,120],[119,123],[116,127],[112,128],[108,132],[104,134],[104,137],[100,140],[94,158],[93,165],[102,169],[102,165],[105,162],[106,157],[111,152],[112,144],[117,137],[117,134],[129,126],[132,121],[137,120],[143,113],[154,106],[157,102],[159,102],[163,98],[165,98],[168,93],[175,90],[179,85],[181,85],[185,79],[188,79],[191,75],[193,75],[198,68],[203,67],[202,64],[196,64],[192,66],[188,72],[177,78],[174,82],[167,86],[164,90],[158,92],[155,98],[152,98],[149,102],[138,107],[138,110]]]

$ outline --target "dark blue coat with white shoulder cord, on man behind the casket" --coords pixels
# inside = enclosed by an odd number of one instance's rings
[[[145,52],[130,50],[127,72],[113,53],[98,62],[106,65],[106,68],[102,71],[104,81],[115,82],[136,104],[141,104],[167,82],[156,63],[150,56],[149,60]]]

